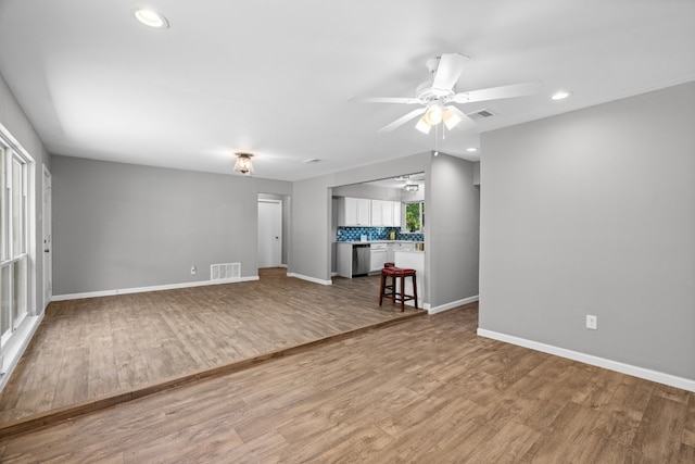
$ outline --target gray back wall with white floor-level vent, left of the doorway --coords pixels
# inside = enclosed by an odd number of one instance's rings
[[[260,192],[291,184],[53,156],[54,294],[255,276]]]

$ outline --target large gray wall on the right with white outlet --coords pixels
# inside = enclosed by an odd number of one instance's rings
[[[483,134],[480,327],[695,379],[694,128],[690,83]]]

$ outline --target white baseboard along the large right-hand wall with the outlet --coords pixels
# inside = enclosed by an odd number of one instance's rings
[[[478,335],[480,337],[492,338],[493,340],[517,344],[519,347],[529,348],[531,350],[541,351],[543,353],[567,358],[569,360],[579,361],[582,363],[591,364],[593,366],[607,368],[609,371],[619,372],[622,374],[631,375],[633,377],[639,377],[695,392],[695,380],[688,378],[678,377],[671,374],[652,371],[645,367],[633,366],[631,364],[624,364],[618,361],[606,360],[604,358],[594,356],[592,354],[567,350],[565,348],[554,347],[552,344],[545,344],[539,341],[527,340],[525,338],[514,337],[511,335],[500,334],[497,331],[486,330],[484,328],[478,328]]]

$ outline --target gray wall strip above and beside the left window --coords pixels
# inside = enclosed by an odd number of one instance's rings
[[[40,314],[43,312],[43,262],[42,262],[42,240],[43,230],[41,217],[43,214],[43,201],[42,201],[42,164],[50,170],[51,159],[43,148],[43,143],[39,139],[38,135],[34,130],[31,123],[24,114],[24,111],[15,100],[14,96],[10,91],[7,83],[0,76],[0,124],[11,134],[11,136],[28,152],[34,159],[34,216],[30,220],[34,225],[35,233],[35,254],[36,259],[33,260],[33,274],[35,277],[34,288],[30,289],[31,298],[29,309],[30,314]]]

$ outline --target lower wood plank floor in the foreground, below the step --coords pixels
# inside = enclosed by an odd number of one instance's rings
[[[0,440],[3,463],[693,463],[695,393],[476,336],[477,304]]]

